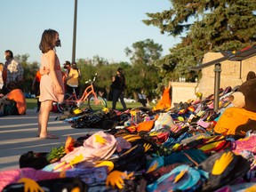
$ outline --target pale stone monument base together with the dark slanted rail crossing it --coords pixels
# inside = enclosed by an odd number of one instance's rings
[[[196,92],[202,92],[203,98],[214,93],[217,63],[220,63],[220,88],[234,88],[245,81],[249,71],[256,73],[256,46],[229,56],[220,52],[205,53],[203,64],[192,68],[202,70],[202,77],[197,83],[172,82],[172,107],[173,103],[196,99]]]

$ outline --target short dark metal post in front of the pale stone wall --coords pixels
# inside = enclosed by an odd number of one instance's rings
[[[220,72],[221,72],[221,64],[216,63],[214,68],[214,111],[217,111],[219,108],[220,101]]]

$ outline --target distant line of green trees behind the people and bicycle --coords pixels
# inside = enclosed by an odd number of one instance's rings
[[[161,83],[161,76],[159,76],[154,62],[161,57],[162,45],[155,44],[151,39],[146,39],[132,44],[132,48],[127,47],[124,52],[127,57],[130,57],[131,62],[110,63],[98,55],[92,59],[77,59],[77,67],[80,68],[82,74],[80,80],[81,92],[84,91],[86,86],[85,81],[92,79],[97,73],[95,86],[104,89],[108,95],[112,77],[116,76],[116,69],[121,67],[124,68],[126,79],[125,97],[137,99],[137,93],[141,92],[149,98],[156,98],[159,95],[157,87],[159,82]],[[21,85],[23,92],[33,92],[31,84],[36,71],[40,68],[40,63],[36,61],[29,63],[28,58],[28,54],[15,56],[15,59],[24,68],[24,84]],[[64,71],[64,68],[62,69]]]

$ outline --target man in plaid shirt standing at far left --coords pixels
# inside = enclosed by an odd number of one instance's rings
[[[17,82],[19,85],[23,83],[24,69],[20,63],[13,58],[11,50],[4,52],[4,85],[6,86],[10,82]]]

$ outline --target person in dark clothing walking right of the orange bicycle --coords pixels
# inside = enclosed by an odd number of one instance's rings
[[[113,90],[113,100],[112,100],[112,109],[116,109],[116,102],[120,99],[121,104],[126,109],[124,102],[124,88],[125,88],[125,77],[123,68],[117,68],[116,76],[113,77],[111,84]]]

